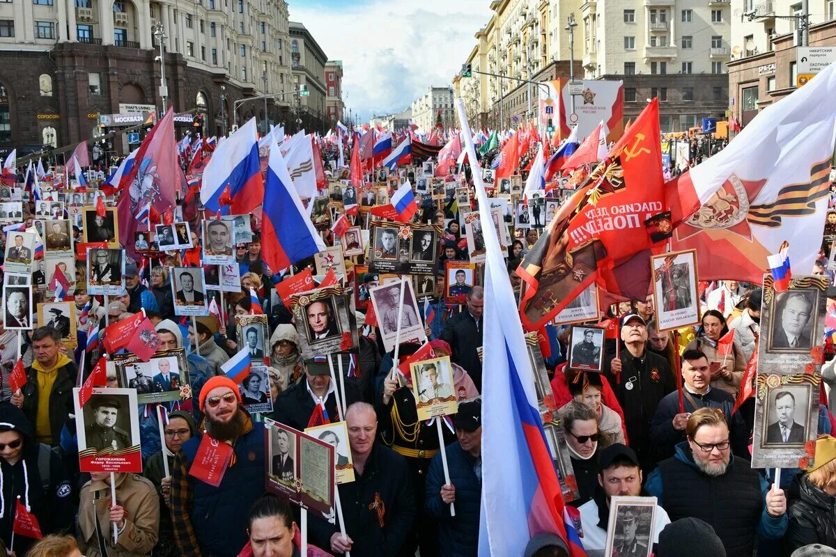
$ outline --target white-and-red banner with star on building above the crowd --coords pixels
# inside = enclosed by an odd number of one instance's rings
[[[584,84],[581,93],[575,95],[575,111],[572,112],[572,96],[568,93],[568,79],[543,81],[540,90],[540,124],[548,127],[549,120],[560,134],[568,137],[574,126],[578,127],[578,139],[592,133],[601,120],[609,129],[608,141],[618,141],[624,134],[624,82],[597,79],[576,79]]]

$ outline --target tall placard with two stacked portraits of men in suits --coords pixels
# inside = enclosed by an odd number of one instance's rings
[[[757,346],[753,468],[807,468],[814,461],[824,361],[827,276],[793,276],[777,292],[765,275]],[[751,364],[750,364],[751,365]]]

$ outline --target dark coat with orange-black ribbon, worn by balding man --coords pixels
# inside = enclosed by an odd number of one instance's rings
[[[364,557],[405,557],[406,535],[415,520],[415,495],[412,491],[406,460],[380,442],[375,443],[363,473],[354,470],[354,482],[340,484],[339,501],[343,507],[346,534],[354,541],[352,555]],[[377,508],[383,504],[383,528]],[[329,524],[311,519],[308,526],[314,543],[330,548],[331,536],[339,532],[339,522]]]

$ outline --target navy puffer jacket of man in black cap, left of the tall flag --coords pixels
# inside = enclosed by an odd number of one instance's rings
[[[476,458],[466,453],[459,444],[445,449],[450,482],[456,487],[456,516],[450,516],[450,505],[441,500],[444,466],[441,454],[436,454],[426,474],[425,506],[438,519],[438,538],[441,557],[475,557],[479,551],[479,502],[482,498],[482,479],[473,471]]]

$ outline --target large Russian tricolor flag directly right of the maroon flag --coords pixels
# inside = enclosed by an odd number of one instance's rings
[[[221,195],[227,186],[232,205],[221,205]],[[258,133],[256,120],[252,118],[215,149],[203,170],[201,202],[212,213],[246,215],[261,205],[263,199]]]

